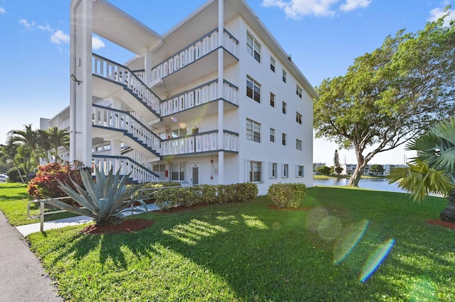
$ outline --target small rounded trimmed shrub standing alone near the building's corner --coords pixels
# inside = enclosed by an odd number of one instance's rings
[[[279,208],[299,208],[306,197],[306,186],[299,183],[272,184],[267,196]]]

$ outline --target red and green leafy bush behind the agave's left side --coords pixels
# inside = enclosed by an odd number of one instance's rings
[[[84,168],[82,162],[75,160],[70,162],[53,162],[38,167],[36,177],[28,182],[28,195],[35,198],[63,197],[67,196],[59,187],[58,180],[67,183],[76,189],[73,182],[84,188],[80,178],[80,169]],[[85,168],[84,168],[85,169]]]

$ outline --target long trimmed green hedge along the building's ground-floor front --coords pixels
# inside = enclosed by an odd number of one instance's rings
[[[156,193],[155,204],[162,210],[173,206],[194,206],[200,203],[232,203],[251,201],[257,196],[256,184],[202,184],[176,187]]]

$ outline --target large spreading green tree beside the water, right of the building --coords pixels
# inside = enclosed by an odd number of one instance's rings
[[[354,150],[350,186],[379,152],[392,150],[454,113],[455,24],[444,18],[417,34],[400,30],[358,57],[343,77],[316,87],[316,138]],[[368,150],[367,150],[368,148]]]

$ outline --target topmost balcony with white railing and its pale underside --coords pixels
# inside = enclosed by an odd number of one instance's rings
[[[223,49],[225,66],[237,62],[238,40],[224,30]],[[218,69],[218,30],[213,30],[188,45],[175,55],[151,69],[151,83],[154,90],[164,92],[169,87],[181,86],[195,78],[215,72]],[[197,67],[194,62],[198,62]]]

